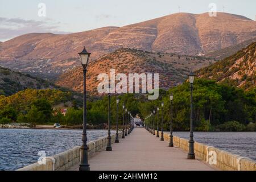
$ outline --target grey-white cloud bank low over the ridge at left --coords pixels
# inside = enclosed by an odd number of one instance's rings
[[[47,18],[45,21],[26,20],[21,18],[0,17],[0,41],[6,41],[16,36],[29,33],[69,34],[71,32],[59,31],[60,22]]]

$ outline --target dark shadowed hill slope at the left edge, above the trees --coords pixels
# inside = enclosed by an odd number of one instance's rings
[[[0,67],[0,95],[10,96],[27,88],[46,89],[55,88],[55,85],[41,78]]]

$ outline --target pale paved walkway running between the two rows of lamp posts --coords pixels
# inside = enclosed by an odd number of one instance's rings
[[[135,128],[120,143],[112,144],[113,151],[96,152],[90,158],[92,171],[186,171],[214,170],[200,160],[188,160],[187,153],[179,148],[168,147],[143,128]],[[71,168],[78,170],[77,166]]]

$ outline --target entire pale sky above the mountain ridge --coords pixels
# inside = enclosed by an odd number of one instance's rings
[[[179,12],[200,14],[210,10],[210,3],[217,11],[255,20],[255,0],[0,0],[0,41],[32,32],[121,27]]]

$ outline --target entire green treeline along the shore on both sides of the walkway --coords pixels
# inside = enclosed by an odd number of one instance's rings
[[[174,94],[174,130],[189,130],[190,88],[189,83],[159,90],[159,99],[147,100],[142,94],[123,94],[111,97],[111,122],[116,121],[116,99],[119,98],[118,118],[122,125],[122,105],[135,117],[145,118],[164,102],[164,130],[170,127],[170,93]],[[18,92],[10,97],[0,96],[0,122],[21,122],[34,125],[60,122],[61,125],[82,124],[82,99],[74,99],[71,92],[60,90],[32,90]],[[65,115],[53,108],[60,103],[71,102]],[[196,79],[193,85],[193,118],[198,131],[256,131],[256,88],[250,91],[213,80]],[[108,123],[108,96],[88,97],[87,121],[89,125]],[[161,114],[161,113],[160,113]],[[158,121],[156,114],[156,121]]]

